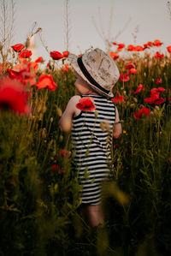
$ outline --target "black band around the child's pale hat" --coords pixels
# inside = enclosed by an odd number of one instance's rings
[[[96,80],[94,80],[92,77],[91,77],[91,74],[89,74],[88,70],[85,68],[85,65],[84,63],[82,62],[82,57],[78,57],[77,59],[77,63],[80,67],[80,70],[82,71],[82,73],[85,75],[86,79],[90,81],[90,83],[93,85],[93,86],[96,86],[98,89],[100,89],[102,92],[105,92],[105,93],[109,93],[108,90],[104,89],[102,86],[100,86]]]

